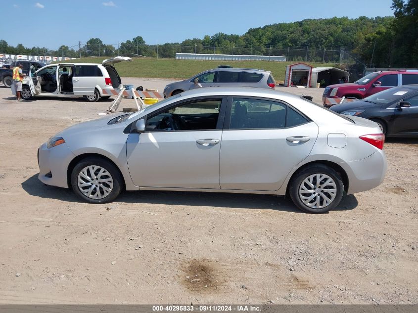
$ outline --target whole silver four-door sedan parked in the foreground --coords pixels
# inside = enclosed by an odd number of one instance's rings
[[[55,134],[38,150],[39,179],[90,203],[123,189],[288,193],[322,213],[382,182],[383,143],[376,123],[294,94],[201,88]]]

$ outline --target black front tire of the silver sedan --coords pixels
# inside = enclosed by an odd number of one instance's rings
[[[100,176],[96,177],[100,172]],[[97,180],[100,178],[104,180]],[[107,203],[119,195],[123,179],[119,170],[109,161],[88,157],[81,160],[71,172],[71,186],[75,194],[85,202]]]

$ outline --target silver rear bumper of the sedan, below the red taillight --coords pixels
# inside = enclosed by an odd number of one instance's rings
[[[347,173],[347,194],[367,191],[380,185],[386,175],[387,161],[383,150],[365,159],[339,164]]]

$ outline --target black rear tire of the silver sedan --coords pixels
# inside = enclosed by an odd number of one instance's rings
[[[316,183],[317,175],[320,175],[319,186]],[[331,181],[328,179],[331,179]],[[328,181],[328,184],[321,186],[321,183],[323,184],[325,181]],[[318,188],[314,189],[309,184]],[[300,210],[308,213],[325,213],[340,203],[344,194],[344,184],[339,174],[333,169],[322,164],[316,164],[295,174],[290,182],[289,194],[293,203]],[[328,200],[331,200],[328,204],[324,195]],[[306,197],[306,199],[302,199],[302,196]],[[311,200],[309,200],[310,196],[313,196]],[[315,201],[318,199],[319,205]]]

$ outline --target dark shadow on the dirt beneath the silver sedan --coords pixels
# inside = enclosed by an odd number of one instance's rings
[[[46,185],[34,175],[22,183],[22,188],[30,195],[45,199],[67,202],[81,202],[70,189]],[[115,202],[132,204],[162,204],[182,206],[211,206],[237,209],[268,209],[292,213],[303,213],[289,197],[223,192],[186,192],[186,191],[125,191]],[[335,211],[353,210],[358,206],[354,195],[344,196]]]

